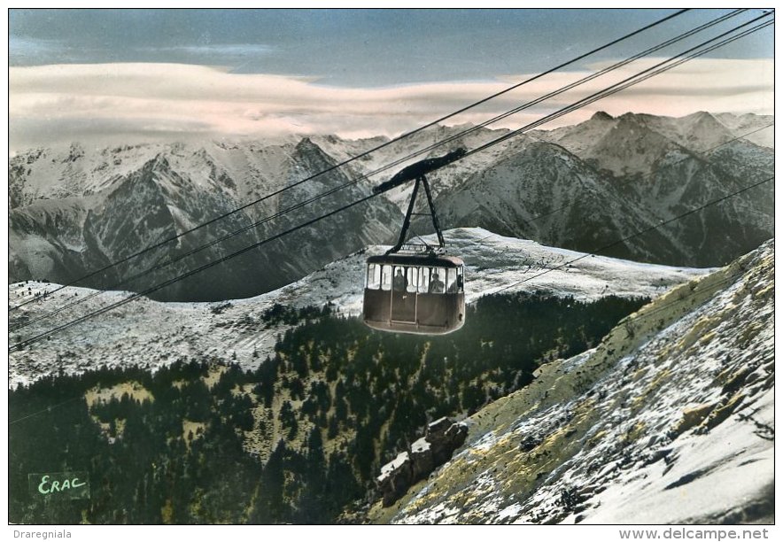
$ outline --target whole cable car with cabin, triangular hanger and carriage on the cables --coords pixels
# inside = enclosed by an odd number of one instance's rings
[[[464,156],[459,149],[439,159],[426,159],[407,166],[390,181],[376,187],[377,193],[415,179],[399,240],[382,256],[367,259],[363,319],[372,329],[444,335],[465,323],[464,263],[446,256],[446,244],[432,203],[426,173]],[[438,247],[405,244],[419,187],[424,187],[430,217],[438,236]]]

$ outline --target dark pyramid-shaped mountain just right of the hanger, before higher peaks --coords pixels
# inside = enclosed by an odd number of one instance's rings
[[[585,161],[558,145],[531,142],[471,175],[436,199],[447,227],[481,225],[542,244],[595,250],[657,221]],[[428,231],[428,219],[415,230]],[[428,228],[429,226],[429,228]],[[613,256],[676,259],[678,246],[665,232],[614,247]]]

